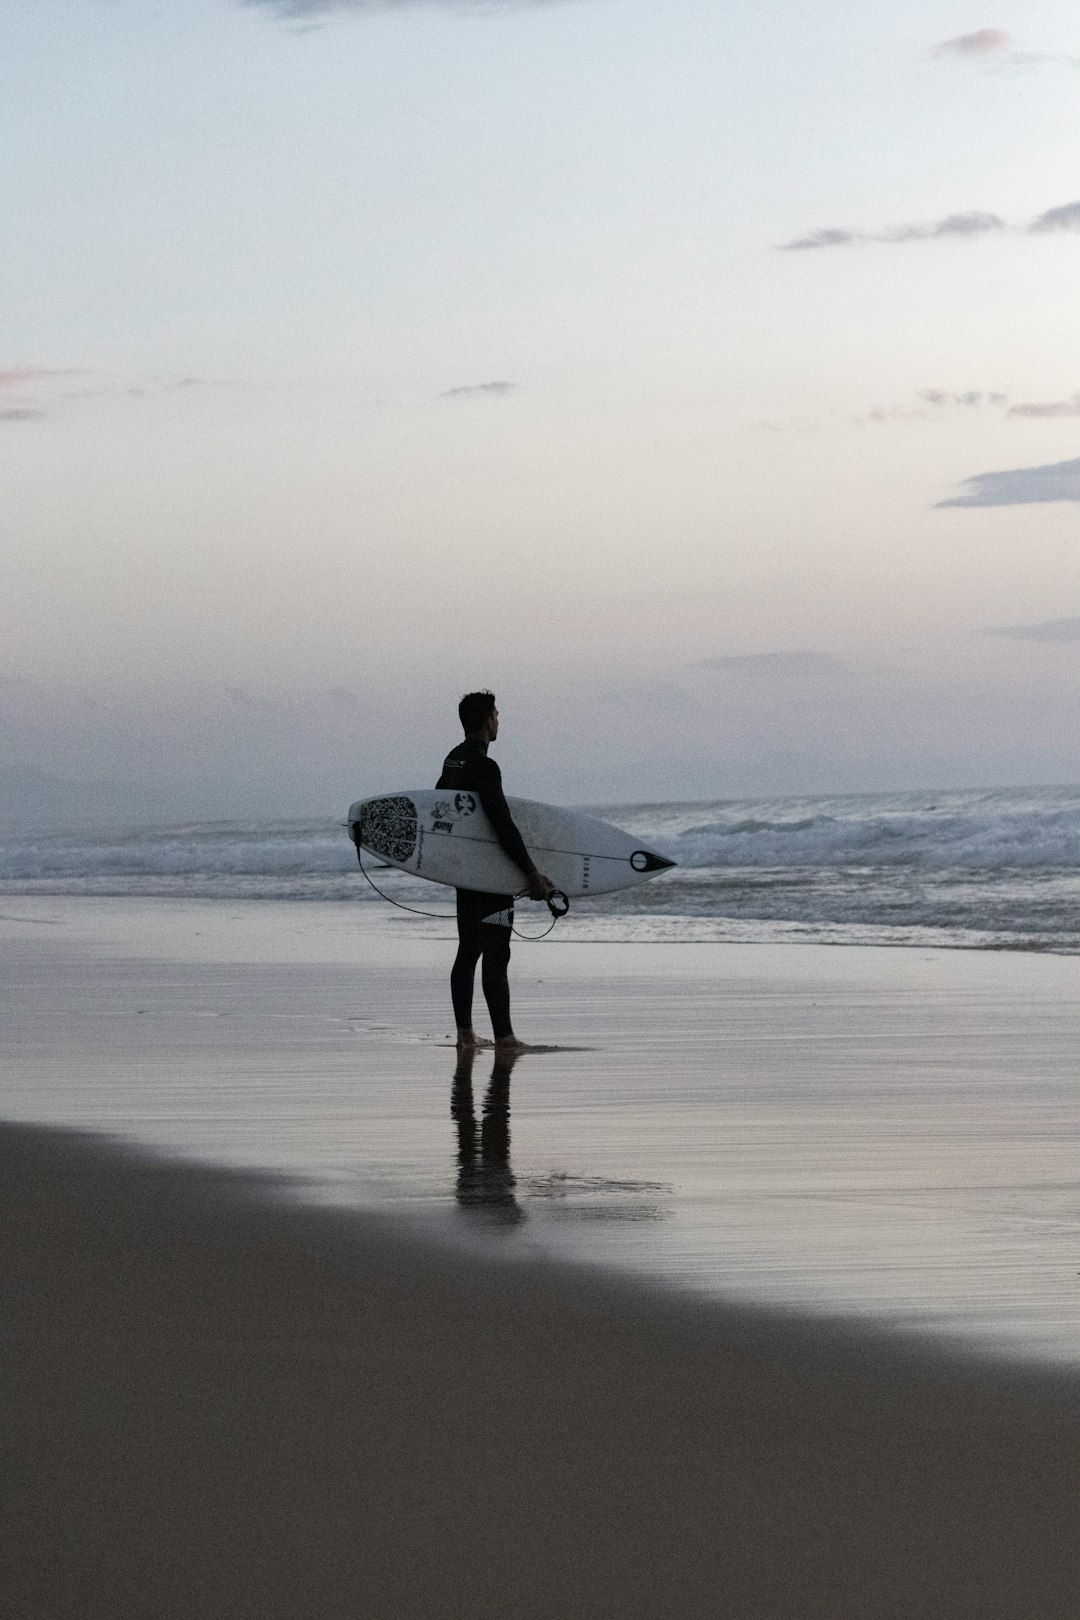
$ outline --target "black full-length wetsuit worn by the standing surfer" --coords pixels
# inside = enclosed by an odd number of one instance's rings
[[[436,787],[452,792],[476,794],[495,838],[510,860],[529,878],[536,867],[525,841],[513,825],[510,807],[502,792],[502,771],[487,758],[487,744],[466,737],[452,748],[442,765]],[[458,954],[450,972],[450,996],[458,1029],[473,1027],[473,980],[476,964],[483,957],[481,983],[491,1013],[495,1040],[513,1034],[510,1024],[510,930],[513,927],[513,894],[486,894],[479,889],[458,889]]]

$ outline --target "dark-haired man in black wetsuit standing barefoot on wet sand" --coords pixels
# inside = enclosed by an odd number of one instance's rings
[[[487,744],[499,735],[499,710],[491,692],[466,692],[458,703],[465,742],[452,748],[442,765],[436,787],[476,794],[507,855],[521,868],[523,888],[534,901],[554,894],[554,885],[533,865],[525,841],[513,825],[502,792],[502,771],[487,758]],[[495,1047],[500,1051],[523,1051],[525,1045],[510,1024],[510,930],[513,928],[513,894],[484,894],[458,889],[458,954],[450,972],[453,1019],[458,1047],[484,1045],[473,1029],[473,980],[481,966],[481,985],[491,1013]]]

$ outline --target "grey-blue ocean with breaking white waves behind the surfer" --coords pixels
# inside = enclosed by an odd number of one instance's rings
[[[565,940],[1080,951],[1080,787],[589,808],[678,865],[576,901]],[[345,807],[340,821],[0,834],[0,894],[395,901],[447,915],[445,889],[376,867],[371,880],[382,894],[358,868]],[[523,932],[546,922],[520,907]]]

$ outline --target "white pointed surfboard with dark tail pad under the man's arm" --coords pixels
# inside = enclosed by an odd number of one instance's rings
[[[567,896],[628,889],[675,865],[597,816],[533,799],[507,804],[538,868]],[[476,794],[421,787],[358,799],[348,831],[358,849],[431,883],[489,894],[525,888],[521,868],[504,852]]]

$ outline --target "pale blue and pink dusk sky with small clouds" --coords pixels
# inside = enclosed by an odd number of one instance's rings
[[[1064,0],[0,16],[0,787],[1080,781]]]

